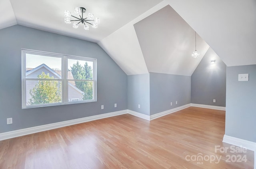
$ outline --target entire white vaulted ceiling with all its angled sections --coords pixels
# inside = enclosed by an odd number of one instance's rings
[[[72,28],[86,8],[97,29]],[[227,66],[256,64],[255,0],[1,0],[0,29],[20,24],[98,43],[128,75],[192,75],[209,46]],[[192,58],[195,47],[201,53]]]

